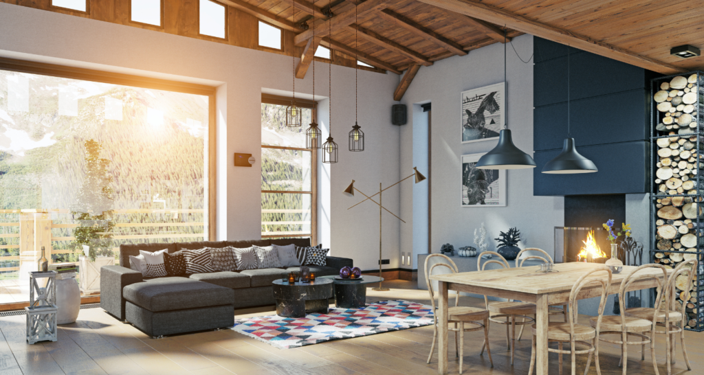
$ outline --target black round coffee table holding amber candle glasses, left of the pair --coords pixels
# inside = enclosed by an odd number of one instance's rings
[[[279,317],[302,318],[306,313],[321,312],[327,314],[329,298],[332,298],[331,279],[316,279],[315,281],[289,284],[281,279],[272,281],[274,298],[276,299],[276,314]]]

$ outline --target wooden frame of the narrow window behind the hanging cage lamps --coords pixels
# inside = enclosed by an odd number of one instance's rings
[[[289,106],[291,105],[291,98],[287,96],[277,96],[271,94],[262,94],[262,104],[274,104],[277,106]],[[318,117],[316,111],[318,110],[318,103],[308,99],[296,98],[296,104],[301,108],[310,108],[313,111],[311,116],[313,118]],[[261,125],[260,125],[261,126]],[[304,126],[304,125],[302,125]],[[262,190],[262,193],[274,193],[274,194],[310,194],[310,234],[284,234],[277,236],[275,234],[263,235],[262,239],[278,239],[282,237],[308,237],[310,236],[310,244],[312,246],[318,245],[318,150],[311,150],[310,148],[301,147],[286,147],[286,146],[268,146],[262,145],[262,148],[275,148],[278,150],[297,150],[297,151],[309,151],[310,152],[310,187],[311,191],[279,191],[279,190]],[[261,220],[261,219],[260,219]],[[261,226],[260,226],[261,227]]]

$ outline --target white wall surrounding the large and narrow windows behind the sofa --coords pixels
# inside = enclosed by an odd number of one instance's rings
[[[218,239],[260,238],[260,93],[291,90],[291,58],[137,27],[0,3],[0,56],[60,65],[122,72],[208,84],[218,87]],[[316,64],[315,93],[327,96],[328,68]],[[296,82],[296,90],[312,93],[313,77]],[[362,191],[398,177],[399,129],[391,125],[393,74],[359,71],[359,123],[367,134],[366,151],[347,151],[347,132],[354,125],[354,70],[332,68],[333,135],[340,162],[327,167],[329,200],[321,239],[333,255],[353,258],[362,269],[377,267],[378,216],[373,204],[346,210],[356,199],[341,191],[357,179]],[[327,107],[321,103],[321,107]],[[326,111],[327,108],[322,108]],[[321,121],[329,126],[327,115]],[[252,153],[252,168],[234,167],[233,153]],[[398,212],[398,194],[384,196]],[[393,217],[391,217],[393,218]],[[396,220],[395,218],[393,218]],[[398,254],[398,223],[385,218],[387,257]],[[333,224],[334,223],[334,224]],[[327,231],[327,232],[326,232]],[[394,258],[397,258],[394,256]],[[392,265],[393,266],[393,265]]]

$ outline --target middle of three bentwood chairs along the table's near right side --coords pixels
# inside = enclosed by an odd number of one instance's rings
[[[657,275],[653,274],[638,274],[641,269],[660,269],[662,271],[662,279]],[[658,272],[659,274],[660,272]],[[658,284],[658,296],[655,298],[655,306],[658,309],[653,309],[652,314],[646,318],[629,316],[626,314],[626,305],[624,299],[626,293],[629,291],[629,286],[635,281],[643,279],[655,279]],[[628,345],[643,345],[650,344],[650,357],[653,360],[653,368],[655,368],[655,375],[659,375],[658,372],[658,362],[655,362],[655,327],[658,322],[658,314],[655,310],[660,311],[660,305],[662,303],[662,298],[665,298],[665,306],[669,300],[668,293],[664,293],[665,286],[667,284],[667,269],[662,265],[649,264],[642,265],[626,275],[624,281],[621,283],[621,287],[618,292],[618,305],[621,310],[620,315],[611,315],[608,317],[603,317],[599,319],[601,321],[601,335],[620,335],[620,339],[610,339],[610,338],[599,338],[605,343],[612,343],[621,345],[621,364],[623,367],[623,375],[626,375],[626,367],[628,364]],[[590,319],[591,325],[595,326],[597,324],[596,319],[593,317]],[[665,314],[665,322],[669,324],[670,320]],[[649,336],[648,336],[649,335]],[[629,341],[629,336],[634,336],[640,338],[640,341]],[[667,348],[670,348],[670,335],[665,335],[665,340],[667,341]],[[641,359],[643,358],[641,354]],[[667,361],[668,367],[670,366],[670,361]]]

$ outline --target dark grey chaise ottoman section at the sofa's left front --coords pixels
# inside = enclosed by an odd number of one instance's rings
[[[125,319],[149,336],[234,325],[234,291],[184,277],[125,286]]]

